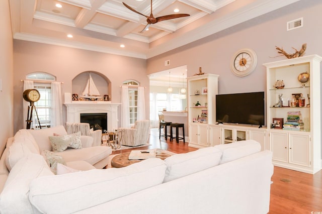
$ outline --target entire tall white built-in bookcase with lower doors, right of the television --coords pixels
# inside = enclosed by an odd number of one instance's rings
[[[311,174],[321,169],[321,60],[318,55],[310,55],[264,64],[267,129],[276,166]],[[299,81],[301,76],[308,76],[308,81]],[[283,80],[284,86],[275,87],[278,80]],[[305,104],[291,106],[292,95],[298,98],[300,94]],[[282,124],[274,126],[277,121]]]

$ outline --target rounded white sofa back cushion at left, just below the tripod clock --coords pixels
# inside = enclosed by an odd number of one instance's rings
[[[13,143],[18,143],[18,142],[28,146],[29,150],[32,153],[40,154],[39,147],[35,138],[26,129],[21,129],[15,134]]]

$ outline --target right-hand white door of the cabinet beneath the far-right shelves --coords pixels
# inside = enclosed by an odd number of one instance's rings
[[[310,136],[290,134],[289,162],[302,166],[310,166]]]

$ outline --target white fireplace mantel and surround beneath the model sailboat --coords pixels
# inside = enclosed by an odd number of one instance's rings
[[[67,107],[67,123],[81,122],[81,114],[107,113],[107,129],[118,128],[117,109],[121,103],[111,101],[71,101],[65,102]]]

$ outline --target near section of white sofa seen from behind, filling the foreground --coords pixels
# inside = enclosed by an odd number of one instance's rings
[[[0,212],[267,213],[272,155],[260,149],[249,140],[164,161],[152,158],[124,168],[61,175],[53,175],[42,156],[30,153],[10,171]]]

